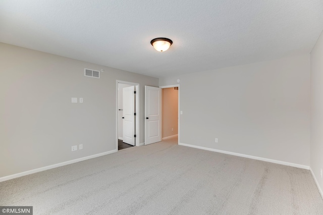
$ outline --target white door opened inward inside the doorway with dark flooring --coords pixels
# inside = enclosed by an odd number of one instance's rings
[[[123,142],[135,145],[135,86],[122,89]]]

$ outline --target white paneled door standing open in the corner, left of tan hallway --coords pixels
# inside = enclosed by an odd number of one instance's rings
[[[145,86],[145,145],[161,141],[161,89]]]

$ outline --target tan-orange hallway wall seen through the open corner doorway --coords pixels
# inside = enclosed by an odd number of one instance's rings
[[[173,130],[172,130],[173,129]],[[178,134],[178,90],[163,89],[163,138]]]

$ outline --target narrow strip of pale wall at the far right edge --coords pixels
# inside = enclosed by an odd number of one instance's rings
[[[311,141],[310,167],[323,195],[323,34],[311,52]]]

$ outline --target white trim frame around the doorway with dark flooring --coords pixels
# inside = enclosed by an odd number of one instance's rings
[[[134,85],[135,89],[136,89],[136,146],[139,146],[139,140],[140,140],[140,128],[139,128],[139,119],[140,119],[140,109],[139,109],[139,84],[138,83],[133,83],[133,82],[129,82],[129,81],[121,81],[121,80],[117,80],[117,84],[116,84],[116,149],[118,151],[118,129],[119,129],[119,121],[118,121],[118,104],[119,104],[119,91],[118,91],[118,85],[119,84],[130,84],[130,85]]]

